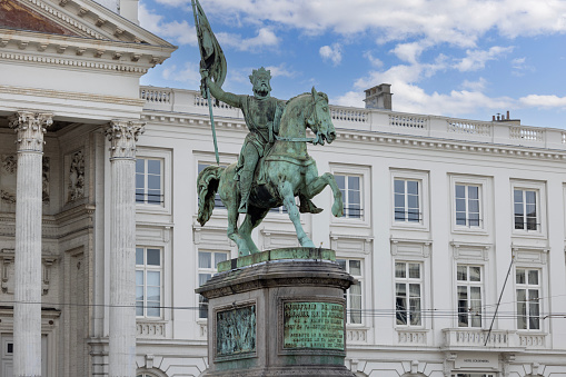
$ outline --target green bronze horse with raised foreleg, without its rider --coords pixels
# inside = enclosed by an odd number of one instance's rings
[[[316,135],[306,138],[306,129]],[[299,208],[295,197],[300,198],[300,210],[317,214],[321,209],[314,207],[310,199],[328,185],[332,189],[332,215],[342,216],[342,197],[334,176],[329,172],[318,176],[315,160],[307,152],[307,142],[324,145],[336,138],[336,131],[328,108],[328,97],[317,92],[299,95],[287,101],[281,116],[279,135],[267,156],[256,169],[248,212],[238,229],[239,185],[235,179],[236,163],[227,168],[209,166],[198,176],[199,195],[198,221],[203,226],[215,207],[215,195],[219,190],[220,199],[228,210],[228,237],[238,246],[239,256],[259,252],[251,240],[251,230],[266,217],[271,208],[285,205],[289,218],[295,225],[297,238],[304,247],[315,247],[300,225]]]

